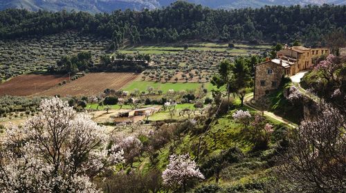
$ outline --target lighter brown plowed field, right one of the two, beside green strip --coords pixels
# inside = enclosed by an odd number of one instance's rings
[[[104,89],[118,90],[138,77],[135,73],[88,73],[84,77],[36,95],[97,95]]]

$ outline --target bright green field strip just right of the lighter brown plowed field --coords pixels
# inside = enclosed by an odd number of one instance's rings
[[[202,84],[204,84],[204,88],[211,91],[214,86],[211,83],[192,83],[192,82],[149,82],[149,81],[134,81],[131,84],[122,88],[124,91],[134,91],[134,89],[139,89],[140,92],[147,91],[148,86],[154,87],[154,89],[161,90],[163,93],[166,93],[168,90],[173,89],[174,91],[183,91],[183,90],[192,90],[201,88]]]

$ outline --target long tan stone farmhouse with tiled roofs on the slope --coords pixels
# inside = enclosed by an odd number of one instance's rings
[[[255,66],[254,99],[277,89],[282,77],[290,77],[313,66],[313,58],[329,55],[328,48],[305,48],[285,46],[275,59],[266,59]]]

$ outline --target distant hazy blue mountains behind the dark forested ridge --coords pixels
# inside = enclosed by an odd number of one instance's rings
[[[162,6],[169,6],[175,0],[3,0],[0,2],[0,10],[6,8],[25,8],[27,10],[81,10],[86,12],[112,12],[113,10],[143,10],[144,8],[155,9]],[[343,0],[188,0],[190,3],[201,4],[209,8],[260,8],[262,6],[291,6],[291,5],[307,5],[323,3],[334,3],[336,5],[345,4]]]

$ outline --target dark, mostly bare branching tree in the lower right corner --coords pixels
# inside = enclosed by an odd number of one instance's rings
[[[345,113],[323,101],[316,111],[275,158],[273,192],[345,192]]]

